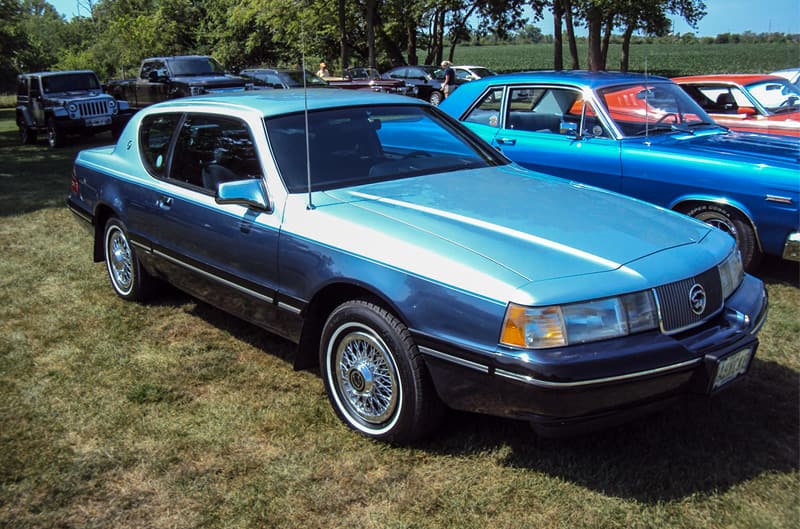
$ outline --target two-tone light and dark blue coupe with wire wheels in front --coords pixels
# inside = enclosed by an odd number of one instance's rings
[[[343,422],[390,442],[447,406],[550,432],[716,393],[767,310],[722,231],[523,169],[402,96],[154,105],[78,154],[68,205],[119,296],[163,279],[296,342]]]

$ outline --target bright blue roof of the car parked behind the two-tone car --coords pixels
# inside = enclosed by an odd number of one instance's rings
[[[590,72],[586,70],[534,70],[529,72],[505,73],[492,77],[484,77],[483,79],[472,81],[469,84],[481,86],[484,84],[549,83],[571,85],[575,87],[589,86],[591,88],[599,88],[625,83],[644,83],[654,81],[671,82],[666,77],[638,73]]]

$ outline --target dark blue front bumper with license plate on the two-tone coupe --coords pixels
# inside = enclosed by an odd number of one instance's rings
[[[723,313],[673,336],[653,331],[526,353],[457,351],[417,339],[448,406],[524,419],[541,433],[560,434],[616,424],[682,395],[728,387],[748,370],[766,314],[763,283],[746,276]]]

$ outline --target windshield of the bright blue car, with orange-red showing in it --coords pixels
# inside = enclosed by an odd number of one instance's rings
[[[598,90],[600,101],[625,136],[646,136],[714,125],[677,84],[636,83]]]

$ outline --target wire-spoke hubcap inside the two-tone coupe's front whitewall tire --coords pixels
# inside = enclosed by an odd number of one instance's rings
[[[351,416],[369,424],[391,418],[399,398],[397,369],[388,348],[370,332],[352,330],[334,358],[336,384]]]

